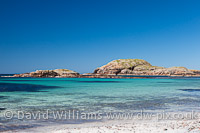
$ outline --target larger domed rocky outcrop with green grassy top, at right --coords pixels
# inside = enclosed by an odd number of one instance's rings
[[[200,76],[200,71],[185,67],[164,68],[152,66],[141,59],[119,59],[94,70],[94,74],[106,75],[152,75],[152,76]]]

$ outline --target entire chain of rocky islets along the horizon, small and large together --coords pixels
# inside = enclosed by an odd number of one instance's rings
[[[79,74],[68,69],[56,69],[15,74],[13,77],[133,78],[134,76],[199,77],[200,70],[190,70],[185,67],[152,66],[142,59],[118,59],[95,69],[93,73]]]

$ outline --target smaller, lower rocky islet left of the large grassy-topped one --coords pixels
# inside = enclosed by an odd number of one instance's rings
[[[14,77],[77,77],[79,73],[68,69],[37,70],[35,72],[15,74]]]

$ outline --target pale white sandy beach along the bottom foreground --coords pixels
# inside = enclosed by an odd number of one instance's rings
[[[84,124],[64,124],[14,130],[20,133],[199,133],[199,120],[165,120],[165,121],[106,121]]]

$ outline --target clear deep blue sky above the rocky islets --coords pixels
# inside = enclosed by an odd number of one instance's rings
[[[0,0],[0,73],[125,58],[200,69],[200,1]]]

